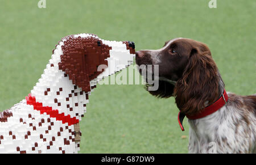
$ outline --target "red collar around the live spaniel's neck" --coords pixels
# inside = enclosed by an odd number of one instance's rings
[[[224,90],[222,96],[220,97],[220,99],[218,99],[217,101],[215,101],[213,104],[208,105],[207,107],[205,107],[204,109],[202,109],[200,111],[200,113],[197,113],[196,115],[185,115],[184,113],[179,112],[178,115],[178,121],[179,121],[179,125],[182,131],[184,131],[184,127],[182,125],[183,119],[185,116],[187,116],[188,119],[200,119],[203,118],[205,116],[208,116],[216,111],[218,111],[218,109],[220,109],[221,107],[223,107],[226,102],[228,101],[228,95],[226,94],[226,91]]]

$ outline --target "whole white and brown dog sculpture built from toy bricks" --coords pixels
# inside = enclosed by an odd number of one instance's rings
[[[133,63],[135,45],[63,37],[26,99],[0,113],[0,153],[77,153],[79,121],[98,81]]]

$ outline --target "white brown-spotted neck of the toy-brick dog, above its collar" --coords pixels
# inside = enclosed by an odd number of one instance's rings
[[[59,69],[60,55],[63,54],[62,44],[61,42],[57,45],[39,82],[31,90],[31,95],[35,96],[37,102],[43,103],[44,107],[52,107],[60,113],[81,120],[86,111],[86,104],[89,102],[90,92],[82,91],[80,87],[73,84],[64,71]],[[91,87],[96,85],[93,82],[90,82]]]

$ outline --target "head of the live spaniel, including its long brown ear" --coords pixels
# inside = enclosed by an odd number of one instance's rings
[[[216,99],[218,70],[210,49],[204,43],[176,38],[167,41],[161,49],[136,52],[136,62],[138,65],[159,67],[159,88],[149,91],[152,95],[160,98],[175,96],[179,98],[176,103],[184,98],[184,102],[189,97],[197,98],[202,100],[199,106],[204,104],[205,99],[209,103]]]

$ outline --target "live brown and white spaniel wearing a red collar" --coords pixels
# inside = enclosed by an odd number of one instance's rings
[[[135,59],[153,70],[158,65],[159,88],[149,92],[158,98],[174,96],[182,130],[188,118],[189,153],[256,152],[256,95],[225,91],[206,44],[176,38],[161,49],[136,52]]]

